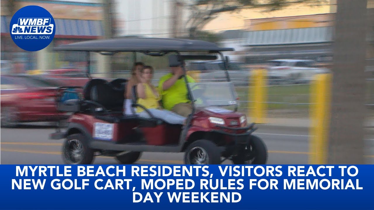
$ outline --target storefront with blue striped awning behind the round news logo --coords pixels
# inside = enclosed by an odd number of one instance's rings
[[[9,34],[12,16],[7,0],[1,0],[1,61],[13,61],[15,73],[30,70],[49,70],[64,67],[83,68],[86,54],[80,52],[53,52],[52,48],[60,44],[101,38],[102,4],[71,1],[14,1],[14,12],[18,9],[37,5],[48,10],[56,24],[56,33],[52,43],[43,50],[28,52],[13,42]]]

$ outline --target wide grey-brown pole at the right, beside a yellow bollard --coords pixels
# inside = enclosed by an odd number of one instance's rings
[[[328,164],[364,164],[367,0],[338,0]]]

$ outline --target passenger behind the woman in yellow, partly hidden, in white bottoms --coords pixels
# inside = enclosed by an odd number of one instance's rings
[[[132,115],[134,114],[132,112],[132,101],[131,101],[131,89],[133,86],[137,85],[140,80],[140,70],[142,70],[142,68],[144,67],[144,63],[142,62],[136,62],[134,64],[134,67],[132,68],[132,71],[131,71],[131,78],[130,80],[128,81],[127,83],[127,89],[126,89],[126,92],[124,93],[125,94],[125,102],[123,103],[124,106],[123,106],[123,114],[124,115]]]

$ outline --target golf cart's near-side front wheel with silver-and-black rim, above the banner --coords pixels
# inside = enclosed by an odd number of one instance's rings
[[[194,161],[199,153],[203,155],[205,160],[202,160],[200,163]],[[209,140],[200,139],[192,142],[187,146],[186,152],[184,153],[184,163],[185,164],[221,164],[221,153],[219,152],[218,146]]]

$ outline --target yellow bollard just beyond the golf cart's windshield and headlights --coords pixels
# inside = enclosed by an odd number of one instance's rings
[[[266,70],[253,70],[251,75],[251,83],[248,88],[248,101],[252,101],[251,105],[249,106],[250,109],[248,116],[252,118],[252,122],[254,123],[266,123]]]

